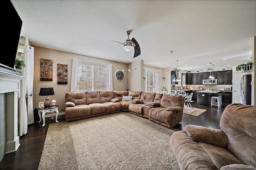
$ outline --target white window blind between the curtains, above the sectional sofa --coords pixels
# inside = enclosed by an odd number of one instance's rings
[[[78,61],[76,91],[106,91],[108,89],[108,65]]]

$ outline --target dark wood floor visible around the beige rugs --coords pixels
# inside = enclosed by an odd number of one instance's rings
[[[222,107],[203,107],[198,106],[196,101],[192,103],[192,107],[206,109],[198,117],[183,114],[182,122],[174,128],[184,130],[186,125],[200,125],[208,128],[219,129],[220,118],[227,103],[222,103]],[[58,121],[65,121],[65,115],[61,115]],[[42,123],[35,122],[28,125],[28,133],[20,136],[20,147],[16,152],[6,154],[0,162],[0,170],[37,170],[42,154],[44,140],[48,126],[55,123],[55,119],[46,118],[45,127]]]

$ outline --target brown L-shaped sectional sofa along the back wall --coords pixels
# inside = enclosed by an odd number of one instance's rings
[[[132,101],[122,101],[132,96]],[[142,91],[69,92],[65,95],[66,121],[117,112],[129,112],[168,128],[182,121],[184,97]]]

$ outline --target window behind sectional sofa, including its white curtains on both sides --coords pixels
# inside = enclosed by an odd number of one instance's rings
[[[73,59],[71,91],[112,90],[112,65]]]

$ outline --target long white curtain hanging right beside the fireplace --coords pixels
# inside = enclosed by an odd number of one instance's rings
[[[25,78],[20,81],[20,136],[28,133],[28,123],[34,123],[33,95],[30,96],[33,91],[34,47],[28,45],[28,38],[26,38],[26,45],[26,53],[24,54],[26,67],[21,73]],[[28,108],[26,92],[28,94]]]

